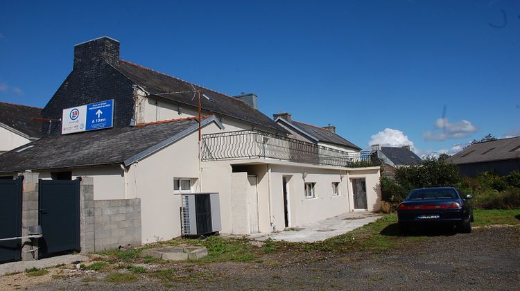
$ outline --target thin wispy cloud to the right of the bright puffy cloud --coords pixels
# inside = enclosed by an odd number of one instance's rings
[[[424,132],[422,136],[426,141],[445,141],[447,139],[464,139],[478,128],[467,120],[450,123],[448,118],[439,118],[435,122],[437,130]]]

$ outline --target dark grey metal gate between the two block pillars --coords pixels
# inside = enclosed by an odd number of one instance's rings
[[[80,180],[42,180],[39,186],[40,258],[80,250]]]

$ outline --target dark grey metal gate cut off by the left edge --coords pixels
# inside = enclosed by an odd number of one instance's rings
[[[21,236],[22,177],[0,179],[0,239]],[[21,260],[21,239],[0,240],[0,263]]]

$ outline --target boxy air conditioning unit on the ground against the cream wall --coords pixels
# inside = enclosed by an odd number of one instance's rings
[[[182,193],[184,236],[201,236],[221,229],[218,193]]]

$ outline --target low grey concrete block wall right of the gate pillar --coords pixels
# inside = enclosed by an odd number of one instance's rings
[[[141,200],[94,200],[94,250],[141,245]]]

